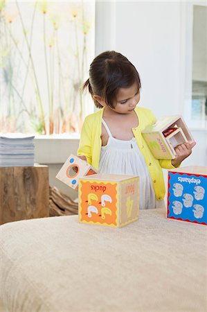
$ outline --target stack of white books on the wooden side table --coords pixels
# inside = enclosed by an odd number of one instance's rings
[[[0,166],[34,166],[33,135],[0,133]]]

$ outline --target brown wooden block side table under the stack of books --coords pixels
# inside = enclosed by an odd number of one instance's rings
[[[0,167],[0,225],[49,216],[48,166]]]

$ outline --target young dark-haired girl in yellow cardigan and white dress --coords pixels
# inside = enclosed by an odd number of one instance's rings
[[[91,63],[89,89],[97,112],[84,120],[78,156],[100,173],[138,175],[140,209],[163,205],[162,168],[179,166],[191,154],[188,143],[176,148],[175,159],[154,159],[141,131],[156,121],[140,101],[141,80],[134,65],[120,53],[107,51]]]

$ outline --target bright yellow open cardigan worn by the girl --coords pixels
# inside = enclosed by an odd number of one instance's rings
[[[97,170],[100,162],[100,150],[102,146],[101,134],[103,110],[104,108],[90,114],[84,120],[78,148],[78,155],[85,155],[87,157],[87,162]],[[154,114],[150,110],[138,106],[136,107],[135,112],[138,116],[138,127],[132,128],[132,131],[150,171],[156,199],[162,200],[165,196],[162,168],[171,169],[174,168],[174,166],[172,166],[170,159],[155,159],[141,135],[141,131],[145,129],[147,125],[151,125],[156,121]]]

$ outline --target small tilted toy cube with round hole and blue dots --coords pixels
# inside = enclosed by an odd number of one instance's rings
[[[70,155],[56,177],[72,189],[78,190],[79,178],[84,175],[94,175],[96,169],[77,156]]]

